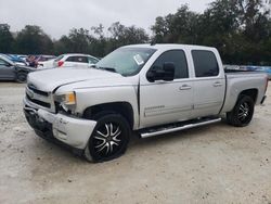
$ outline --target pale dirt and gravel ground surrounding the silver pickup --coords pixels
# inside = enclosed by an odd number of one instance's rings
[[[271,87],[246,128],[133,139],[103,164],[38,138],[23,95],[24,85],[0,84],[0,203],[271,203]]]

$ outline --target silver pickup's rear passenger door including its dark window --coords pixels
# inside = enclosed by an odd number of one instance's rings
[[[218,53],[192,50],[195,69],[193,117],[217,115],[222,107],[225,79]]]

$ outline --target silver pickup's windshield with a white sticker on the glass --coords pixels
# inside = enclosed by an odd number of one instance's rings
[[[99,61],[96,67],[132,76],[140,72],[155,51],[150,48],[119,48]]]

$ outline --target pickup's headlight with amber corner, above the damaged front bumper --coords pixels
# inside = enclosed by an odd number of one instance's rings
[[[56,94],[54,100],[67,112],[74,111],[76,105],[75,92],[67,92],[63,94]]]

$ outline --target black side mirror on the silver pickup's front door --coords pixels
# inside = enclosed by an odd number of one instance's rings
[[[153,66],[147,73],[146,78],[150,82],[156,80],[172,81],[175,79],[175,64],[166,62],[163,68],[159,66]]]

